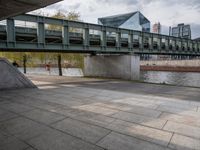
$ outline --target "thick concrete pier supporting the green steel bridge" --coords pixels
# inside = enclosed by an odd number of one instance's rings
[[[89,77],[139,80],[140,56],[138,55],[85,56],[84,75]]]

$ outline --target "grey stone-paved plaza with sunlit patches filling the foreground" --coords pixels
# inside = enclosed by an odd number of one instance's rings
[[[200,88],[29,78],[0,91],[0,150],[200,150]]]

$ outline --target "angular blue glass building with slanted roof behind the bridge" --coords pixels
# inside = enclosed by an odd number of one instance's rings
[[[139,11],[98,19],[98,24],[150,32],[150,21]]]

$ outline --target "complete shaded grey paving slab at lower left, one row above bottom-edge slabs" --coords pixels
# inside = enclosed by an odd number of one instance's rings
[[[63,115],[40,109],[34,109],[33,111],[25,112],[23,115],[27,118],[47,125],[66,118]]]

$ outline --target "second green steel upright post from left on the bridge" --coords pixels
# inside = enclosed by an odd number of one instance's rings
[[[45,45],[45,26],[44,26],[44,17],[38,16],[38,29],[37,29],[37,39],[38,46],[44,47]]]

